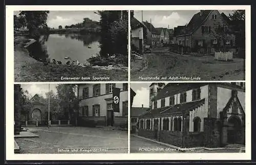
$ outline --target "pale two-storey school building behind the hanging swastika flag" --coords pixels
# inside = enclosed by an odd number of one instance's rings
[[[119,112],[113,110],[113,88],[120,89]],[[127,128],[128,84],[78,84],[78,125]]]

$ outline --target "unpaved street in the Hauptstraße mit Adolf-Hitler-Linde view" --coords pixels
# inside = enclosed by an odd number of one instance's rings
[[[167,47],[152,49],[145,56],[147,69],[140,69],[142,60],[131,62],[131,80],[144,80],[139,79],[140,76],[158,76],[160,80],[168,80],[170,76],[200,77],[200,80],[245,79],[245,59],[216,61],[212,56],[180,55],[168,51]],[[167,79],[161,79],[165,76]]]

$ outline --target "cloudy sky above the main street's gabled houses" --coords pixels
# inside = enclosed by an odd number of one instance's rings
[[[143,11],[143,21],[151,22],[155,28],[169,28],[173,29],[178,25],[185,25],[190,21],[194,14],[199,10],[168,10],[168,11]],[[232,10],[219,10],[220,13],[232,13]],[[134,17],[139,21],[142,20],[142,12],[134,11]]]

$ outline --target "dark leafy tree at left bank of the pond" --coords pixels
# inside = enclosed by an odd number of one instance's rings
[[[29,35],[33,38],[40,36],[39,29],[48,28],[47,18],[49,11],[22,11],[19,16],[24,18]]]

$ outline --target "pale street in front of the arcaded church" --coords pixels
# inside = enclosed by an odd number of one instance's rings
[[[152,141],[142,139],[131,135],[130,152],[131,153],[239,153],[245,152],[242,148],[225,148],[225,149],[187,149],[186,151],[181,151],[182,149],[174,149],[161,145]]]

